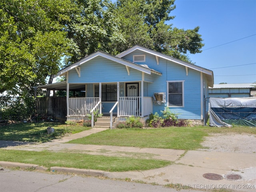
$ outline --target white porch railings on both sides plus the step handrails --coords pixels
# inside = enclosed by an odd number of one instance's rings
[[[67,120],[81,120],[92,114],[103,113],[104,116],[110,117],[110,128],[112,128],[113,114],[116,118],[123,120],[129,116],[143,118],[153,112],[152,97],[118,97],[117,101],[112,103],[110,111],[102,108],[102,104],[104,105],[104,102],[100,100],[100,97],[68,98]],[[94,116],[92,115],[92,127],[93,122]]]

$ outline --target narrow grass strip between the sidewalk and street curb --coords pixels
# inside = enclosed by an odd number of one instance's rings
[[[125,172],[135,170],[150,170],[172,164],[170,161],[137,159],[128,157],[108,157],[78,153],[63,153],[49,151],[23,151],[0,149],[0,161],[37,164],[50,168],[52,166],[103,170],[108,172]]]

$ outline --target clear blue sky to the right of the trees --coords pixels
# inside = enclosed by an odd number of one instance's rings
[[[188,54],[214,73],[214,84],[256,82],[256,0],[176,0],[172,27],[194,29],[204,47]]]

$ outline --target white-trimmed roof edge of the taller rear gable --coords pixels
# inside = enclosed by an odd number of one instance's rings
[[[116,57],[122,58],[122,57],[126,56],[127,54],[130,54],[131,52],[133,52],[135,50],[140,50],[140,51],[152,54],[152,55],[154,55],[156,57],[164,58],[166,60],[169,60],[169,61],[175,62],[177,64],[183,65],[185,67],[192,68],[194,70],[200,71],[200,72],[206,74],[206,78],[208,80],[209,86],[213,87],[214,77],[213,77],[213,71],[212,70],[208,70],[206,68],[202,68],[200,66],[197,66],[197,65],[194,65],[194,64],[182,61],[180,59],[176,59],[176,58],[174,58],[172,56],[168,56],[166,54],[162,54],[160,52],[157,52],[157,51],[154,51],[154,50],[142,47],[142,46],[138,46],[138,45],[133,46],[132,48],[130,48],[130,49],[128,49],[128,50],[118,54]]]

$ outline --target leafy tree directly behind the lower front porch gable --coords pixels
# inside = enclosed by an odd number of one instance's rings
[[[78,0],[78,12],[72,17],[72,22],[67,27],[68,38],[73,39],[78,46],[69,62],[96,50],[110,54],[117,54],[116,44],[124,42],[117,19],[112,13],[110,0]]]

